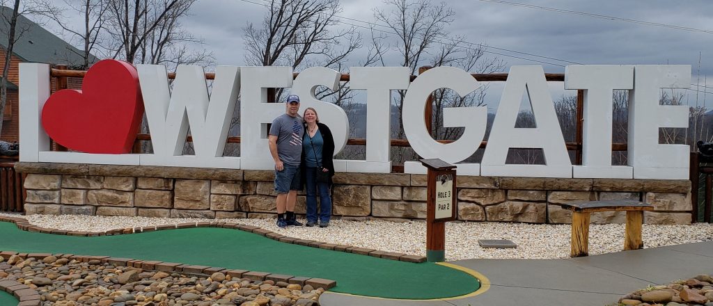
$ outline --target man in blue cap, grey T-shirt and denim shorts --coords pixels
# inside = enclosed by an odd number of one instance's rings
[[[297,191],[302,190],[299,162],[302,159],[302,117],[299,97],[289,95],[285,113],[272,120],[270,154],[275,159],[275,191],[277,192],[277,226],[302,226],[294,216]]]

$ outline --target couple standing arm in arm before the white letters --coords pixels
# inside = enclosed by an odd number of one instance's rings
[[[317,111],[307,107],[299,116],[299,97],[289,95],[285,113],[270,127],[270,154],[275,159],[277,226],[302,226],[294,215],[297,191],[307,186],[307,226],[329,226],[332,199],[329,186],[334,175],[334,137],[329,127],[319,123]]]

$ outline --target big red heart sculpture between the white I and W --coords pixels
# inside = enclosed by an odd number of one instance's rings
[[[143,118],[136,68],[101,60],[84,76],[82,90],[59,90],[42,109],[42,125],[58,144],[86,153],[130,153]]]

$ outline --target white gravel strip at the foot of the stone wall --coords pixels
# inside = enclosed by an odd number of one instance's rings
[[[0,216],[18,216],[0,213]],[[159,226],[187,222],[215,221],[199,218],[143,218],[103,216],[23,216],[36,226],[68,231],[108,231],[116,228]],[[327,243],[373,248],[411,255],[426,255],[426,223],[410,221],[332,220],[327,228],[294,226],[278,228],[275,219],[221,219],[220,221],[259,226],[294,238]],[[304,221],[304,220],[302,220]],[[645,248],[682,243],[713,241],[713,224],[647,225],[642,235]],[[478,239],[509,239],[518,245],[510,249],[486,249]],[[624,246],[624,224],[590,226],[590,255],[618,252]],[[492,222],[446,223],[446,260],[470,258],[568,258],[570,226],[568,224],[528,224]]]

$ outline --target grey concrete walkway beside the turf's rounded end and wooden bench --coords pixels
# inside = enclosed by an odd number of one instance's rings
[[[324,292],[332,305],[610,305],[647,285],[713,273],[713,241],[647,248],[583,258],[471,259],[451,262],[485,275],[490,287],[473,297],[384,300]],[[398,284],[394,284],[398,285]],[[434,284],[438,286],[438,284]]]

